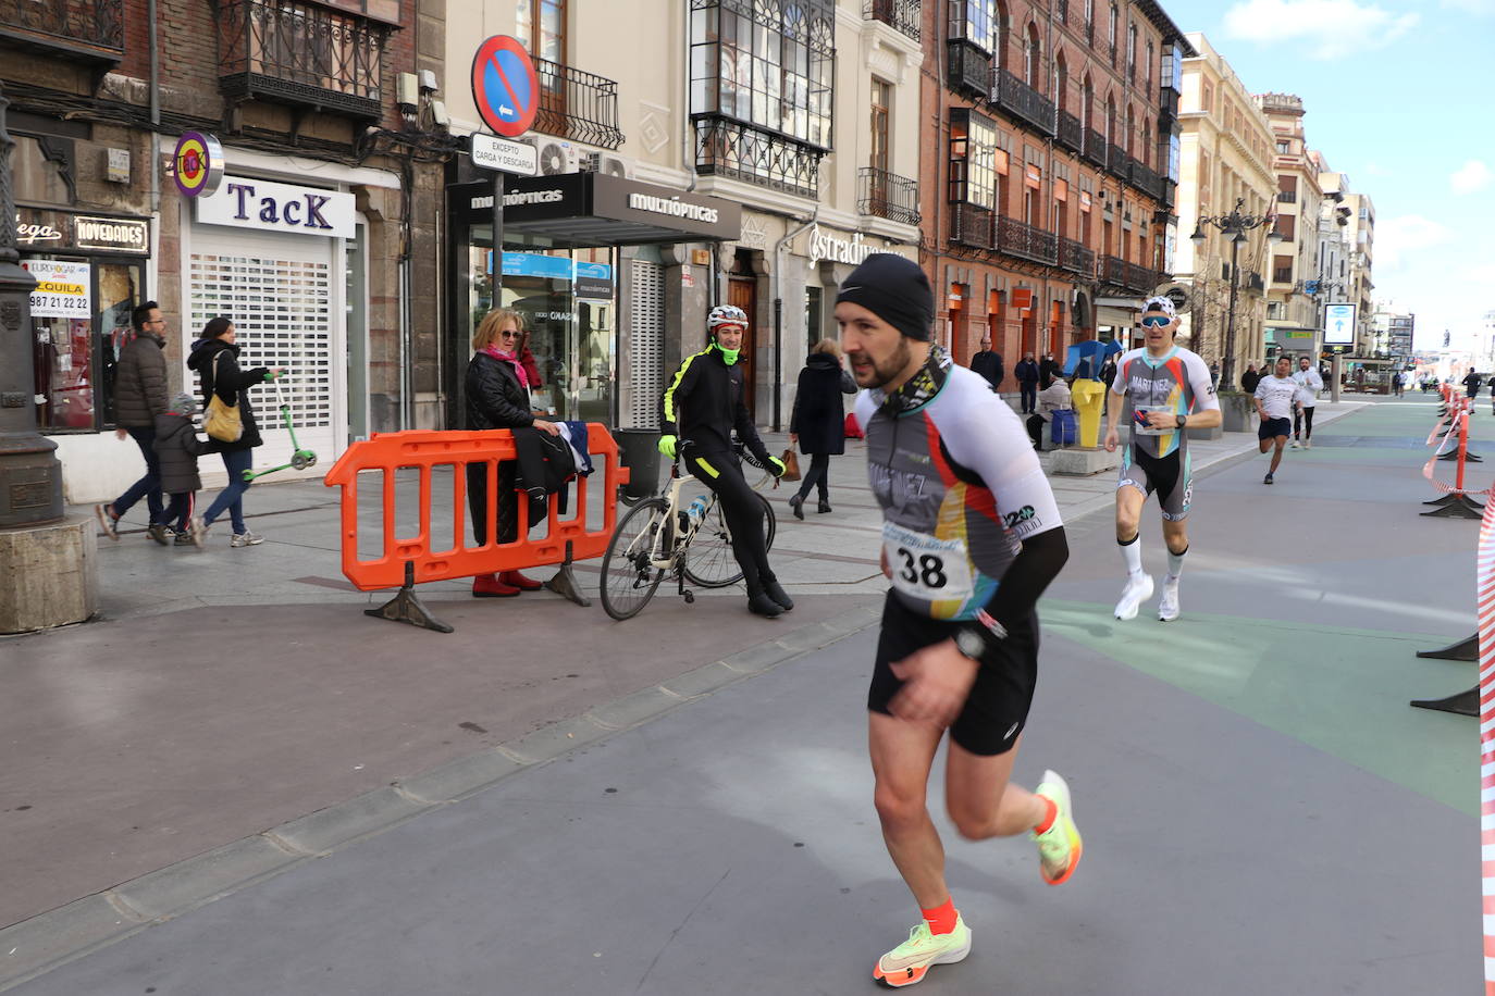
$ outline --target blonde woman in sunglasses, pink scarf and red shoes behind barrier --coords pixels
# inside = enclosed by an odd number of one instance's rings
[[[525,320],[517,311],[495,308],[478,323],[472,334],[472,360],[466,369],[466,427],[525,429],[535,427],[552,436],[561,430],[555,423],[535,418],[529,408],[529,376],[519,357],[525,337]],[[498,536],[495,542],[510,544],[519,533],[519,493],[513,460],[498,464]],[[472,514],[472,538],[478,547],[487,544],[487,464],[466,464],[468,511]],[[508,599],[520,591],[534,591],[541,584],[517,570],[486,573],[472,578],[472,597]]]

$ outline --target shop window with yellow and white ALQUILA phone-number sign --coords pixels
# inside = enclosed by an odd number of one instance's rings
[[[21,266],[37,279],[31,293],[37,426],[43,432],[112,426],[114,370],[133,334],[142,264],[39,255]]]

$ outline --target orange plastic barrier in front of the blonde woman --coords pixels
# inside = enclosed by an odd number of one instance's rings
[[[544,564],[601,557],[607,541],[617,524],[617,488],[629,479],[628,467],[617,458],[617,442],[598,423],[589,423],[588,451],[595,470],[591,476],[576,479],[576,508],[567,521],[556,517],[555,496],[550,500],[549,535],[529,539],[529,502],[519,502],[519,539],[511,544],[496,544],[493,527],[498,496],[498,463],[514,458],[514,436],[507,429],[489,432],[396,432],[374,433],[371,439],[354,442],[338,458],[323,484],[342,488],[342,573],[362,591],[375,588],[399,588],[426,581],[450,581],[471,578],[496,570],[523,570]],[[602,461],[605,460],[605,472]],[[489,542],[481,547],[466,547],[466,463],[489,463]],[[432,467],[453,466],[451,506],[434,509],[431,502]],[[395,535],[395,472],[401,467],[420,470],[420,529],[414,536]],[[359,473],[383,470],[383,500],[378,514],[383,524],[383,554],[372,560],[359,560]],[[594,491],[601,488],[601,494]],[[589,503],[602,502],[602,524],[588,532]],[[450,515],[451,536],[456,547],[432,550],[431,524],[437,515]],[[570,551],[567,547],[570,545]],[[407,573],[407,570],[410,573]]]

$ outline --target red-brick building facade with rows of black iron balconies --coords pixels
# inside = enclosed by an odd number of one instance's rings
[[[1193,54],[1156,3],[924,4],[922,261],[936,337],[1027,352],[1118,337],[1177,231]]]

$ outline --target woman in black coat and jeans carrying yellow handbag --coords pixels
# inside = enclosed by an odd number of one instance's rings
[[[235,342],[233,323],[218,315],[203,326],[202,337],[193,343],[187,367],[196,370],[202,384],[203,432],[212,438],[212,448],[223,454],[223,466],[229,472],[229,485],[208,506],[200,518],[193,521],[193,532],[200,542],[214,520],[224,509],[233,524],[230,547],[254,547],[265,538],[251,533],[244,523],[244,493],[250,482],[244,472],[254,464],[254,448],[260,445],[260,427],[254,421],[248,388],[265,381],[274,381],[283,369],[239,366],[241,346]]]

